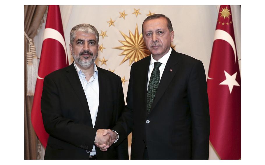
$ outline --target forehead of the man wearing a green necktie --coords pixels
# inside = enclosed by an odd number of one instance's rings
[[[143,30],[144,31],[151,31],[157,29],[168,29],[167,28],[167,20],[164,17],[150,19],[144,22]]]

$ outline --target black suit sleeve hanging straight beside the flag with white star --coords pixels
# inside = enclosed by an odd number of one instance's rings
[[[209,159],[210,116],[207,84],[201,61],[194,64],[188,80],[192,123],[192,159]]]

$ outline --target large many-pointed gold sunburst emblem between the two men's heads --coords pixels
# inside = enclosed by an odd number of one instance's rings
[[[121,61],[120,65],[126,60],[130,59],[129,66],[133,63],[133,61],[141,60],[144,57],[150,55],[149,50],[146,48],[144,44],[144,39],[142,33],[139,35],[138,26],[136,24],[135,33],[129,30],[130,37],[125,35],[120,31],[121,35],[126,41],[119,41],[124,46],[115,47],[114,49],[121,49],[123,52],[120,55],[126,55],[124,59]]]

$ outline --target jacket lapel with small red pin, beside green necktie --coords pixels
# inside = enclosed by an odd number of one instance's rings
[[[164,92],[166,91],[168,85],[171,83],[173,77],[175,76],[178,70],[177,64],[178,64],[178,55],[177,55],[177,52],[174,51],[174,49],[172,48],[172,52],[167,60],[167,64],[165,66],[164,72],[162,74],[161,80],[156,90],[156,96],[153,100],[150,112],[156,106],[156,104],[158,103],[158,101],[160,100]]]

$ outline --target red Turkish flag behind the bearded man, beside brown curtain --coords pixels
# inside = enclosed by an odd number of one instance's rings
[[[44,129],[40,112],[43,79],[51,72],[67,67],[68,65],[60,7],[59,5],[49,5],[31,111],[31,123],[40,142],[45,148],[49,134]]]

